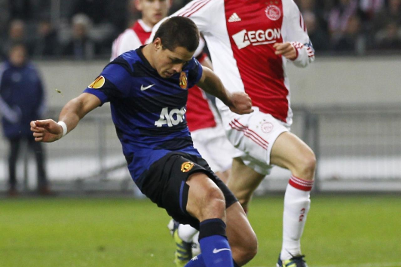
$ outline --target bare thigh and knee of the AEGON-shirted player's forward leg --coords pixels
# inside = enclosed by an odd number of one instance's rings
[[[316,158],[312,149],[290,132],[280,134],[271,149],[270,163],[290,170],[314,165],[314,161]]]

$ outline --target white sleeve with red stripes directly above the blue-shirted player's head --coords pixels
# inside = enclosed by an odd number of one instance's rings
[[[169,17],[188,17],[196,24],[200,32],[206,33],[210,30],[211,23],[214,21],[214,14],[221,7],[224,8],[224,0],[193,0]],[[165,19],[153,27],[149,40],[153,40],[154,34]]]

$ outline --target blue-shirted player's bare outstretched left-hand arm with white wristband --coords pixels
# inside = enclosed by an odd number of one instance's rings
[[[65,134],[74,129],[89,111],[99,105],[101,105],[100,99],[90,93],[82,93],[79,97],[71,99],[59,116],[59,121],[63,121],[67,126]],[[63,137],[64,133],[63,126],[53,119],[31,121],[30,130],[33,131],[36,142],[54,142]]]

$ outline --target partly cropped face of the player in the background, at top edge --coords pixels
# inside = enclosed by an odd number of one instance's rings
[[[138,0],[136,8],[142,11],[142,20],[153,27],[167,16],[170,0]]]

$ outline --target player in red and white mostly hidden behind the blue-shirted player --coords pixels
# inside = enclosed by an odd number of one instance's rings
[[[142,12],[142,18],[114,40],[111,61],[122,53],[146,44],[153,26],[166,17],[171,3],[169,0],[134,0],[134,4]],[[202,65],[211,68],[209,57],[203,52],[205,42],[202,39],[200,41],[194,56]],[[236,149],[227,140],[213,104],[197,86],[188,90],[185,116],[194,147],[217,176],[226,182],[232,163],[231,155]],[[176,242],[174,263],[177,267],[184,266],[193,256],[192,242],[197,243],[198,231],[190,225],[178,225],[173,220],[168,228]]]

